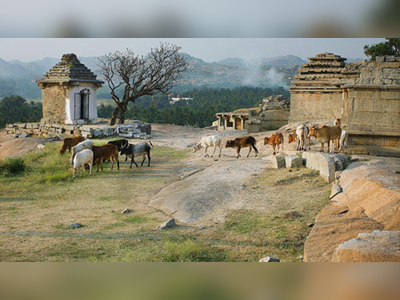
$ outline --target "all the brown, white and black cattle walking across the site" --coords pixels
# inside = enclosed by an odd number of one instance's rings
[[[327,125],[314,125],[307,126],[306,124],[300,124],[296,131],[293,133],[289,133],[289,141],[288,143],[297,142],[297,150],[306,151],[307,148],[310,150],[310,138],[314,137],[316,141],[321,143],[320,151],[323,151],[324,144],[328,144],[328,152],[336,151],[339,152],[344,148],[344,152],[347,151],[347,137],[348,134],[346,131],[341,129],[340,119],[335,119],[333,126]],[[330,147],[330,142],[332,141],[332,147]],[[240,150],[242,148],[249,148],[249,153],[247,157],[250,155],[251,150],[254,149],[255,156],[258,154],[258,149],[256,147],[256,139],[252,136],[236,138],[234,140],[228,140],[226,142],[226,148],[235,148],[237,150],[237,158],[240,157]],[[206,136],[202,137],[200,142],[196,143],[193,147],[193,152],[196,152],[200,149],[205,149],[205,156],[207,157],[207,150],[209,147],[214,147],[214,152],[211,155],[214,156],[217,147],[219,147],[219,156],[221,156],[222,152],[222,140],[219,136]],[[273,154],[276,154],[276,150],[279,151],[280,145],[284,145],[284,136],[282,133],[275,133],[269,137],[264,138],[264,145],[271,145],[273,148]],[[71,153],[70,163],[73,166],[73,178],[76,177],[78,170],[81,170],[81,174],[83,169],[86,167],[89,169],[89,174],[92,175],[92,167],[97,165],[97,172],[99,171],[99,167],[101,171],[103,171],[102,162],[108,160],[112,161],[111,170],[114,167],[114,161],[117,163],[117,169],[119,170],[119,160],[118,153],[121,155],[125,155],[125,161],[130,158],[131,164],[129,168],[132,168],[132,164],[134,163],[136,167],[138,165],[134,161],[134,158],[137,156],[142,156],[142,164],[144,161],[148,160],[148,167],[150,166],[150,150],[154,148],[151,142],[145,142],[138,145],[129,144],[128,140],[120,139],[115,141],[109,141],[107,144],[101,146],[95,146],[93,141],[85,140],[83,137],[72,137],[64,139],[62,148],[60,149],[60,154],[64,154],[68,149],[69,153]],[[333,150],[335,148],[335,150]]]

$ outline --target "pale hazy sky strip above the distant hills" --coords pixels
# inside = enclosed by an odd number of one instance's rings
[[[364,58],[363,48],[382,39],[301,39],[301,38],[186,38],[186,39],[41,39],[1,38],[0,58],[20,61],[41,60],[45,57],[61,58],[64,53],[78,57],[101,56],[108,52],[130,48],[146,54],[160,41],[182,47],[182,52],[207,62],[228,57],[243,59],[296,55],[306,60],[321,52],[332,52],[346,58]]]

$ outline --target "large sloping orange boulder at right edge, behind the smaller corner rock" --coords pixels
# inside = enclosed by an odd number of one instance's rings
[[[369,157],[342,172],[342,193],[317,215],[305,261],[331,261],[340,244],[374,230],[400,231],[400,161]]]

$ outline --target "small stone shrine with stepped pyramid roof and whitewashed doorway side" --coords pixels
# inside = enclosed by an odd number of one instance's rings
[[[37,81],[42,89],[42,123],[96,123],[96,90],[104,83],[96,77],[75,54],[64,54],[61,62]]]

